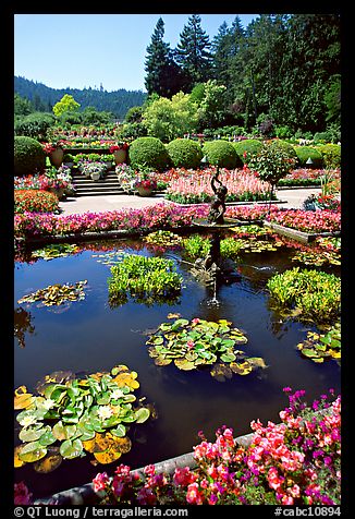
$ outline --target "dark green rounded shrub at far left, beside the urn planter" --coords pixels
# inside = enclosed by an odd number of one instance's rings
[[[44,171],[46,154],[38,141],[26,136],[14,137],[14,176],[35,174]]]

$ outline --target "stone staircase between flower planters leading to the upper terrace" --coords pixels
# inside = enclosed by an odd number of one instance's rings
[[[75,196],[105,196],[124,194],[114,171],[107,171],[103,177],[94,182],[85,178],[81,172],[72,170]]]

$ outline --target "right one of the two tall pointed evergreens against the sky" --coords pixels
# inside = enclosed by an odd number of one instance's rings
[[[210,79],[212,65],[210,46],[209,36],[201,28],[200,16],[193,14],[180,34],[175,49],[175,60],[187,79],[186,92],[191,92],[196,83],[204,83]]]

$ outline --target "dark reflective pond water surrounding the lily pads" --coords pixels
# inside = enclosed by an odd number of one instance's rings
[[[108,249],[127,248],[133,253],[154,253],[139,240],[112,241],[102,251],[100,246],[96,243],[95,251],[84,250],[49,262],[16,263],[15,301],[48,285],[87,279],[87,286],[85,300],[73,302],[64,311],[61,306],[16,304],[15,322],[25,331],[20,340],[19,334],[15,338],[14,387],[25,385],[33,391],[40,378],[59,370],[94,373],[126,364],[136,371],[140,383],[136,394],[154,405],[157,418],[131,429],[132,450],[119,462],[138,468],[192,451],[199,443],[200,430],[213,440],[215,431],[222,424],[233,427],[238,436],[249,433],[249,423],[257,418],[264,423],[279,422],[278,412],[287,405],[282,391],[285,386],[305,389],[309,402],[330,387],[340,390],[340,366],[335,361],[316,364],[296,349],[307,330],[317,328],[284,319],[269,309],[266,282],[272,275],[295,266],[291,249],[243,254],[237,267],[241,278],[218,289],[218,307],[207,304],[210,290],[195,280],[188,265],[180,263],[179,251],[170,250],[161,254],[174,257],[184,277],[181,297],[173,304],[146,306],[130,301],[110,307],[110,267],[100,263],[103,258],[98,255]],[[247,376],[233,375],[221,383],[208,370],[184,372],[173,364],[156,366],[143,331],[168,321],[170,312],[187,319],[231,321],[248,338],[243,349],[249,357],[262,357],[268,367]],[[17,433],[19,429],[15,438]],[[118,464],[94,467],[90,460],[90,456],[64,460],[49,474],[39,474],[27,463],[15,470],[15,479],[26,481],[35,497],[45,497],[87,483],[99,471],[113,472]]]

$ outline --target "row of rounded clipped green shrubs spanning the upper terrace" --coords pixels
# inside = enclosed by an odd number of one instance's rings
[[[290,157],[297,160],[296,167],[340,168],[341,149],[336,144],[313,147],[291,145],[282,140],[277,142],[287,150]],[[203,157],[206,157],[212,166],[233,169],[247,164],[261,146],[261,141],[254,138],[237,143],[209,141],[204,145],[186,138],[175,138],[166,145],[157,137],[138,137],[128,148],[128,161],[133,168],[147,166],[163,171],[169,167],[196,169]],[[45,168],[45,159],[41,145],[37,141],[24,136],[15,137],[15,176],[40,172]]]

